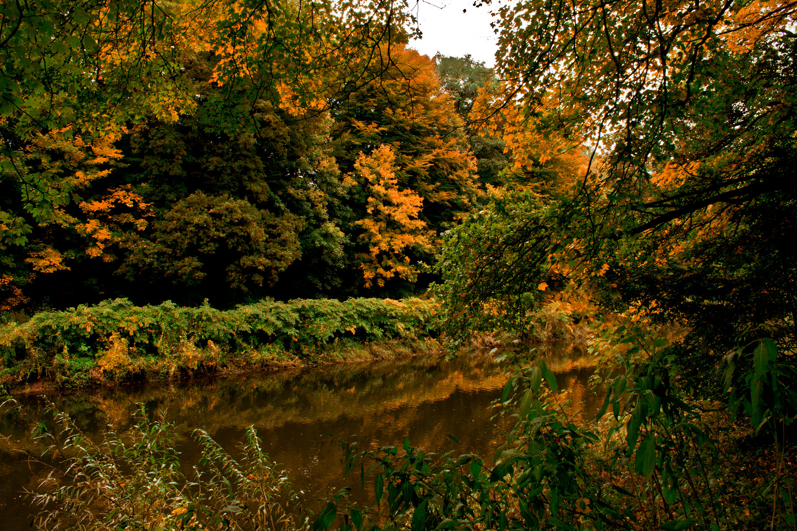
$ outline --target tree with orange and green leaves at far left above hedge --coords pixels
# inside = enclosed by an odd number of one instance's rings
[[[33,135],[21,152],[18,170],[24,172],[22,193],[40,221],[37,230],[28,232],[25,245],[6,245],[2,260],[7,288],[21,292],[35,282],[55,295],[65,271],[81,269],[92,260],[115,260],[114,244],[121,234],[147,226],[149,205],[128,185],[112,186],[84,199],[93,186],[107,184],[119,166],[122,154],[113,146],[115,140],[106,135],[87,142],[65,129]],[[18,177],[14,171],[9,181]],[[14,201],[18,190],[12,190],[3,197],[10,209],[18,206]]]

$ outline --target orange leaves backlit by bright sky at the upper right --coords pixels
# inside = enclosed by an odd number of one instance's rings
[[[618,131],[641,127],[639,118],[624,123],[625,113],[632,112],[629,106],[638,107],[633,112],[641,109],[655,115],[662,111],[661,98],[675,100],[671,108],[689,103],[687,99],[695,96],[697,87],[705,89],[720,80],[717,72],[723,72],[721,64],[719,70],[705,72],[695,69],[695,64],[720,57],[717,48],[724,44],[736,56],[751,53],[778,33],[790,33],[797,22],[794,2],[676,0],[659,6],[654,18],[645,23],[663,33],[634,33],[637,28],[628,29],[616,21],[636,24],[650,17],[641,4],[576,2],[568,14],[548,13],[543,4],[517,2],[500,8],[496,31],[501,33],[504,57],[499,68],[504,68],[505,80],[480,90],[471,115],[481,124],[481,134],[502,135],[508,152],[514,154],[516,170],[530,167],[536,158],[545,162],[556,154],[579,150],[579,146],[603,146],[606,150]],[[528,24],[529,18],[545,20],[540,13],[551,16],[549,21],[556,18],[560,30]],[[569,26],[572,20],[568,17],[578,18],[578,22]],[[602,23],[609,27],[603,28]],[[529,35],[550,37],[552,42],[536,49],[527,46]],[[618,69],[621,75],[615,75]],[[641,96],[657,91],[660,100]],[[771,91],[774,96],[779,89]],[[778,103],[786,100],[771,97],[773,114],[779,110]],[[634,131],[632,136],[642,134]]]

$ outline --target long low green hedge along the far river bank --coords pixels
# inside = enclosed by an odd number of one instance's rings
[[[44,378],[65,388],[274,365],[342,361],[371,342],[426,342],[438,328],[427,299],[264,299],[216,310],[128,299],[0,324],[0,383]],[[362,356],[361,356],[362,357]]]

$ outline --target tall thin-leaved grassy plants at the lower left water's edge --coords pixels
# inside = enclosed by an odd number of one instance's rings
[[[15,406],[13,400],[6,404]],[[40,512],[37,529],[303,529],[304,507],[288,474],[269,460],[249,427],[234,459],[203,430],[194,430],[202,459],[185,471],[175,450],[179,435],[163,416],[135,415],[124,433],[86,435],[64,412],[49,406],[53,426],[35,436],[53,468],[29,492]]]

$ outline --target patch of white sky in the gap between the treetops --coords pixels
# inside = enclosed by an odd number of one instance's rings
[[[473,7],[473,0],[418,0],[413,11],[423,38],[410,41],[409,48],[429,57],[438,52],[454,57],[469,53],[473,59],[493,67],[497,36],[490,27],[493,18],[489,9]]]

